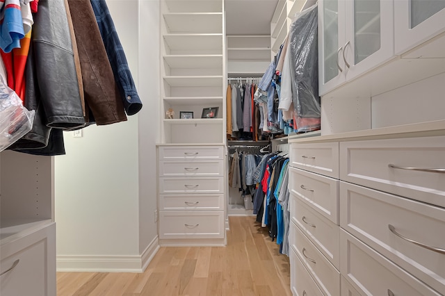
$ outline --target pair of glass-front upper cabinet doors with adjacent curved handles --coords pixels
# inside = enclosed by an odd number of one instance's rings
[[[318,2],[320,95],[394,58],[393,13],[387,0]]]

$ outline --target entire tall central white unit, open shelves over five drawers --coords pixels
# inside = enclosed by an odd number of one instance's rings
[[[225,245],[224,2],[160,3],[159,241]]]

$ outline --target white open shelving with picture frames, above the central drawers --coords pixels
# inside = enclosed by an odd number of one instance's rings
[[[161,1],[161,143],[224,142],[224,28],[223,1]]]

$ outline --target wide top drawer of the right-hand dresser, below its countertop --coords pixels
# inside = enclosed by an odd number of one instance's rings
[[[445,137],[341,142],[341,180],[445,207]]]

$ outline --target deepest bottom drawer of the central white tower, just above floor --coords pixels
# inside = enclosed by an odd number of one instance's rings
[[[161,211],[159,238],[224,238],[224,211]]]

